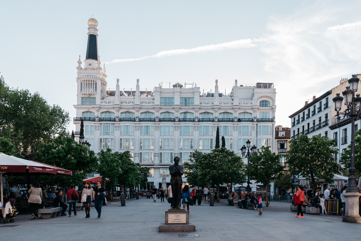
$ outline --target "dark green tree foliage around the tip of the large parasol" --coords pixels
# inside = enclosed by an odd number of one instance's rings
[[[86,146],[63,135],[52,142],[41,144],[34,160],[73,172],[72,176],[42,177],[44,183],[51,185],[80,185],[85,179],[85,174],[93,173],[98,165],[98,158],[93,151],[88,151]]]

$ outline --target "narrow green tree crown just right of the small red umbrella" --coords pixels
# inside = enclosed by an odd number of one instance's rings
[[[99,165],[96,172],[102,177],[102,180],[108,179],[110,186],[118,182],[118,177],[123,173],[121,170],[122,154],[112,153],[112,149],[101,150],[98,154]]]

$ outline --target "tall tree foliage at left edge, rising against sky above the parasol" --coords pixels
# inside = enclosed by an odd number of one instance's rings
[[[0,77],[0,136],[11,139],[15,150],[32,159],[40,144],[64,134],[68,112],[50,106],[39,93],[10,89]]]

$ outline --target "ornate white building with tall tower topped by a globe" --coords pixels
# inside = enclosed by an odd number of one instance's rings
[[[210,152],[215,146],[216,129],[225,137],[226,148],[241,153],[247,140],[252,145],[271,146],[275,152],[276,90],[272,83],[237,84],[229,93],[201,92],[196,84],[161,83],[153,90],[107,90],[105,66],[98,54],[98,22],[88,20],[88,45],[84,64],[77,67],[76,136],[84,121],[85,140],[98,153],[130,151],[133,160],[151,168],[148,181],[158,186],[168,175],[173,157],[188,161],[194,150]],[[150,87],[150,86],[148,86]],[[245,159],[245,163],[247,160]],[[183,179],[186,182],[186,178]]]

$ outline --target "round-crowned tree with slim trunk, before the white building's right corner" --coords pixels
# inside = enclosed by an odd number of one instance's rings
[[[280,156],[272,153],[269,147],[262,146],[248,158],[248,178],[266,186],[266,207],[268,207],[268,185],[282,171],[283,166],[280,163]]]

